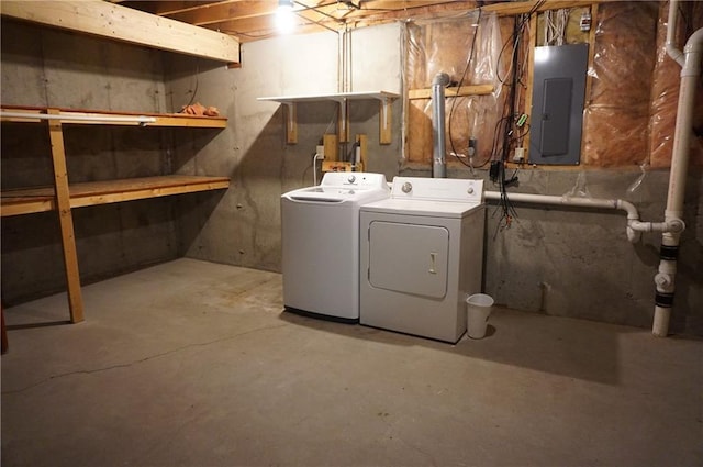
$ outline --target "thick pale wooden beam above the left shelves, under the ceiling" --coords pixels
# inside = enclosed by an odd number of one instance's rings
[[[239,63],[226,34],[105,1],[3,1],[2,15],[161,51]]]

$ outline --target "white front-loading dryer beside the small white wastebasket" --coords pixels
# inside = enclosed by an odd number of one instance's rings
[[[456,343],[481,291],[483,181],[395,177],[360,210],[365,325]]]

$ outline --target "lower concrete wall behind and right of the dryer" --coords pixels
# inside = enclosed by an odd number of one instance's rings
[[[429,169],[405,168],[401,174],[432,176]],[[509,191],[563,196],[572,193],[574,187],[584,188],[591,198],[628,200],[637,207],[641,220],[661,222],[669,171],[648,171],[629,191],[640,175],[639,170],[527,169],[517,174],[518,186]],[[453,168],[448,177],[483,178],[486,190],[500,190],[488,180],[486,170],[471,175],[468,169]],[[513,205],[517,215],[507,229],[496,202],[488,202],[486,210],[483,289],[499,305],[651,327],[660,234],[645,233],[636,244],[629,243],[623,211]],[[700,170],[692,169],[687,181],[684,221],[670,331],[703,335]]]

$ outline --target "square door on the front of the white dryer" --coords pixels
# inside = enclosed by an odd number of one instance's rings
[[[435,225],[369,224],[372,287],[440,299],[447,293],[449,231]]]

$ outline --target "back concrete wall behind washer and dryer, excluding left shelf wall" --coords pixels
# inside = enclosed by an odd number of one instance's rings
[[[400,29],[370,27],[354,33],[354,90],[400,91]],[[284,143],[282,109],[257,97],[334,92],[337,43],[334,34],[260,41],[243,46],[243,67],[236,70],[200,68],[199,92],[207,92],[225,110],[231,125],[199,153],[196,164],[220,165],[233,177],[233,187],[219,204],[187,200],[182,223],[188,256],[254,268],[280,270],[281,193],[312,184],[311,156],[319,138],[335,118],[335,104],[298,107],[299,143]],[[177,58],[177,68],[194,69],[193,59]],[[187,96],[192,77],[187,73],[167,82],[172,96]],[[202,86],[207,84],[207,86]],[[207,89],[207,90],[203,90]],[[226,92],[222,92],[226,90]],[[203,97],[205,99],[205,97]],[[369,135],[370,170],[393,176],[429,176],[403,163],[401,102],[393,104],[393,144],[378,145],[377,103],[355,104],[353,133]],[[358,129],[358,130],[357,130]],[[332,127],[332,132],[334,127]],[[214,143],[214,142],[213,142]],[[213,168],[214,168],[213,166]],[[563,194],[581,173],[523,170],[516,191]],[[668,171],[650,171],[634,192],[627,188],[639,170],[583,173],[592,197],[623,198],[636,203],[643,219],[662,219]],[[469,177],[453,168],[450,177]],[[476,176],[486,177],[479,170]],[[492,182],[487,189],[496,190]],[[687,197],[687,223],[672,331],[703,333],[703,235],[701,179],[692,176]],[[203,209],[204,208],[204,209]],[[571,318],[584,318],[641,327],[651,325],[652,277],[658,266],[659,235],[646,234],[636,245],[625,236],[625,215],[569,209],[516,205],[512,226],[499,230],[496,207],[487,210],[484,290],[499,304]]]

